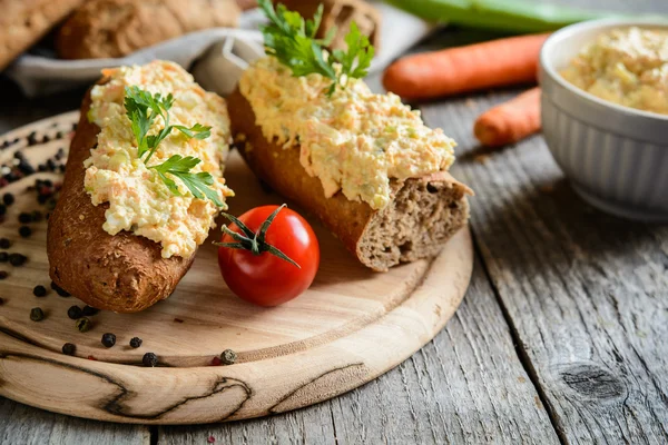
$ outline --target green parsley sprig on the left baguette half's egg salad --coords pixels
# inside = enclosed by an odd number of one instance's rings
[[[137,156],[139,159],[144,157],[144,164],[147,166],[148,161],[158,149],[158,145],[171,134],[173,129],[177,129],[188,138],[195,139],[206,139],[212,135],[212,128],[203,126],[202,123],[195,123],[190,128],[169,125],[169,109],[174,105],[174,97],[171,93],[166,97],[163,97],[159,92],[151,95],[149,91],[143,90],[136,86],[126,87],[125,92],[126,97],[124,105],[128,119],[130,119],[132,132],[137,139]],[[165,126],[156,135],[148,135],[158,116],[163,118]],[[214,177],[206,171],[197,174],[190,172],[190,170],[199,162],[202,162],[202,160],[193,156],[183,157],[180,155],[174,155],[165,162],[148,166],[148,168],[153,168],[157,171],[158,177],[174,195],[183,196],[174,179],[167,175],[180,179],[195,198],[208,198],[216,206],[225,207],[220,199],[218,199],[216,191],[209,188],[214,185]]]

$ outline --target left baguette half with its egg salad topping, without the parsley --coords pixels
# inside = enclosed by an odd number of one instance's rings
[[[177,152],[197,157],[197,168],[214,176],[213,187],[222,200],[233,195],[218,167],[228,151],[229,123],[223,99],[202,90],[175,63],[155,61],[105,73],[98,86],[107,88],[96,87],[84,98],[60,197],[49,218],[49,275],[56,285],[96,308],[132,313],[174,291],[217,209],[184,187],[177,196],[159,178],[148,176],[147,156],[138,157],[130,122],[119,109],[128,100],[125,87],[163,93],[170,88],[174,123],[197,119],[209,126],[206,140],[185,142],[181,134],[173,131],[158,146],[151,165]],[[97,108],[89,112],[94,99]]]

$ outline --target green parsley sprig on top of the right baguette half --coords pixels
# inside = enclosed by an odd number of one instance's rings
[[[328,53],[325,47],[332,41],[336,29],[332,28],[324,39],[315,38],[323,17],[322,4],[313,20],[304,20],[298,12],[288,11],[282,3],[276,9],[271,0],[259,0],[258,3],[269,19],[269,24],[261,27],[265,50],[288,67],[293,76],[318,73],[332,79],[327,96],[332,96],[336,87],[345,88],[350,78],[366,76],[374,49],[355,22],[351,23],[345,37],[347,50]],[[340,69],[335,63],[340,65]]]

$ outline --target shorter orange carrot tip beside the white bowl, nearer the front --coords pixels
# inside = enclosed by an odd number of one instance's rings
[[[514,144],[540,131],[540,88],[532,88],[517,98],[480,115],[473,132],[489,147]]]

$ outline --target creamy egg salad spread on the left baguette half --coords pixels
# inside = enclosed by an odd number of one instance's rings
[[[154,61],[145,66],[104,70],[109,78],[96,86],[88,119],[100,127],[97,147],[85,161],[85,188],[94,205],[109,202],[105,231],[116,235],[128,230],[163,247],[161,256],[189,257],[206,239],[214,226],[217,208],[210,200],[197,199],[180,181],[181,196],[174,195],[155,169],[138,158],[137,140],[124,108],[125,87],[137,86],[150,93],[171,93],[170,123],[190,127],[210,126],[204,140],[188,138],[173,130],[158,146],[150,164],[160,164],[173,155],[193,156],[202,162],[193,172],[208,171],[212,188],[223,200],[233,196],[223,179],[223,162],[229,149],[229,118],[225,101],[206,92],[193,77],[176,63]],[[148,135],[161,130],[165,122],[157,117]]]

